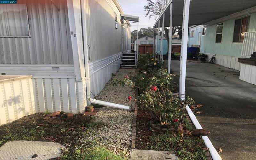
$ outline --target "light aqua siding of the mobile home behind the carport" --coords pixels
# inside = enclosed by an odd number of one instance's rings
[[[206,26],[206,35],[201,36],[200,52],[208,54],[208,58],[211,58],[213,54],[216,54],[217,64],[240,70],[241,64],[238,63],[238,58],[241,56],[243,43],[233,42],[235,19],[220,23],[223,23],[222,42],[215,43],[216,24]],[[198,33],[203,33],[202,29],[203,28],[190,29],[189,46],[198,45]],[[194,38],[190,37],[191,30],[194,30]],[[256,13],[252,13],[250,14],[249,31],[255,30]]]

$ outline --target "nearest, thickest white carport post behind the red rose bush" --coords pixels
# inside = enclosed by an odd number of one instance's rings
[[[182,40],[180,55],[180,98],[185,99],[185,80],[187,65],[187,48],[188,48],[188,20],[189,20],[190,0],[184,0],[183,22],[182,22]]]

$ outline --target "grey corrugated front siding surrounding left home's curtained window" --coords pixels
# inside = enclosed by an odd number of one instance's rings
[[[73,64],[66,1],[54,1],[60,11],[49,0],[19,3],[27,4],[31,37],[0,37],[0,64]]]

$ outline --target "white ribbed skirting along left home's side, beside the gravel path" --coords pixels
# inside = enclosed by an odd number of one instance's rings
[[[99,94],[112,74],[115,74],[121,65],[122,53],[114,54],[106,59],[98,60],[89,64],[90,69],[90,88],[94,95]],[[94,95],[91,94],[93,98]]]

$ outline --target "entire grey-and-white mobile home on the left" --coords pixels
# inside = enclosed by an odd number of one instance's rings
[[[0,125],[46,110],[83,112],[130,50],[123,15],[117,0],[0,4],[0,74],[32,75],[32,83],[0,83]]]

